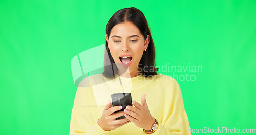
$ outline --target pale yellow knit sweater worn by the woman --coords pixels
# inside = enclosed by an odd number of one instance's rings
[[[132,100],[141,103],[146,94],[146,102],[151,115],[159,126],[153,134],[191,134],[184,109],[180,87],[176,80],[166,75],[146,78],[141,74],[133,78],[115,75],[114,79],[102,74],[89,76],[78,86],[71,114],[70,135],[73,134],[146,134],[133,122],[115,130],[104,131],[98,125],[106,103],[112,93],[131,93]]]

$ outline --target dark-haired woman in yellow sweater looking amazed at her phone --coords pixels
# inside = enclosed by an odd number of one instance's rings
[[[70,134],[190,134],[178,83],[157,74],[154,65],[143,13],[134,7],[117,11],[106,26],[103,74],[87,77],[77,88]],[[122,106],[112,107],[111,94],[120,92],[132,94],[133,106],[114,113]]]

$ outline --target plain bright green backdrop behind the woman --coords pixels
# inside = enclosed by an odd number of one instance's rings
[[[158,66],[202,66],[161,72],[196,76],[177,80],[191,128],[256,128],[256,1],[2,0],[1,134],[69,134],[70,61],[103,44],[106,23],[126,7],[146,16]]]

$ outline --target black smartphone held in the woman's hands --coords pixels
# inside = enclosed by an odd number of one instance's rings
[[[132,95],[131,93],[114,93],[111,95],[112,98],[112,106],[123,106],[121,110],[118,111],[123,111],[127,105],[132,105]],[[114,113],[117,113],[118,111],[115,111]],[[125,116],[121,116],[116,118],[117,119],[123,119]]]

